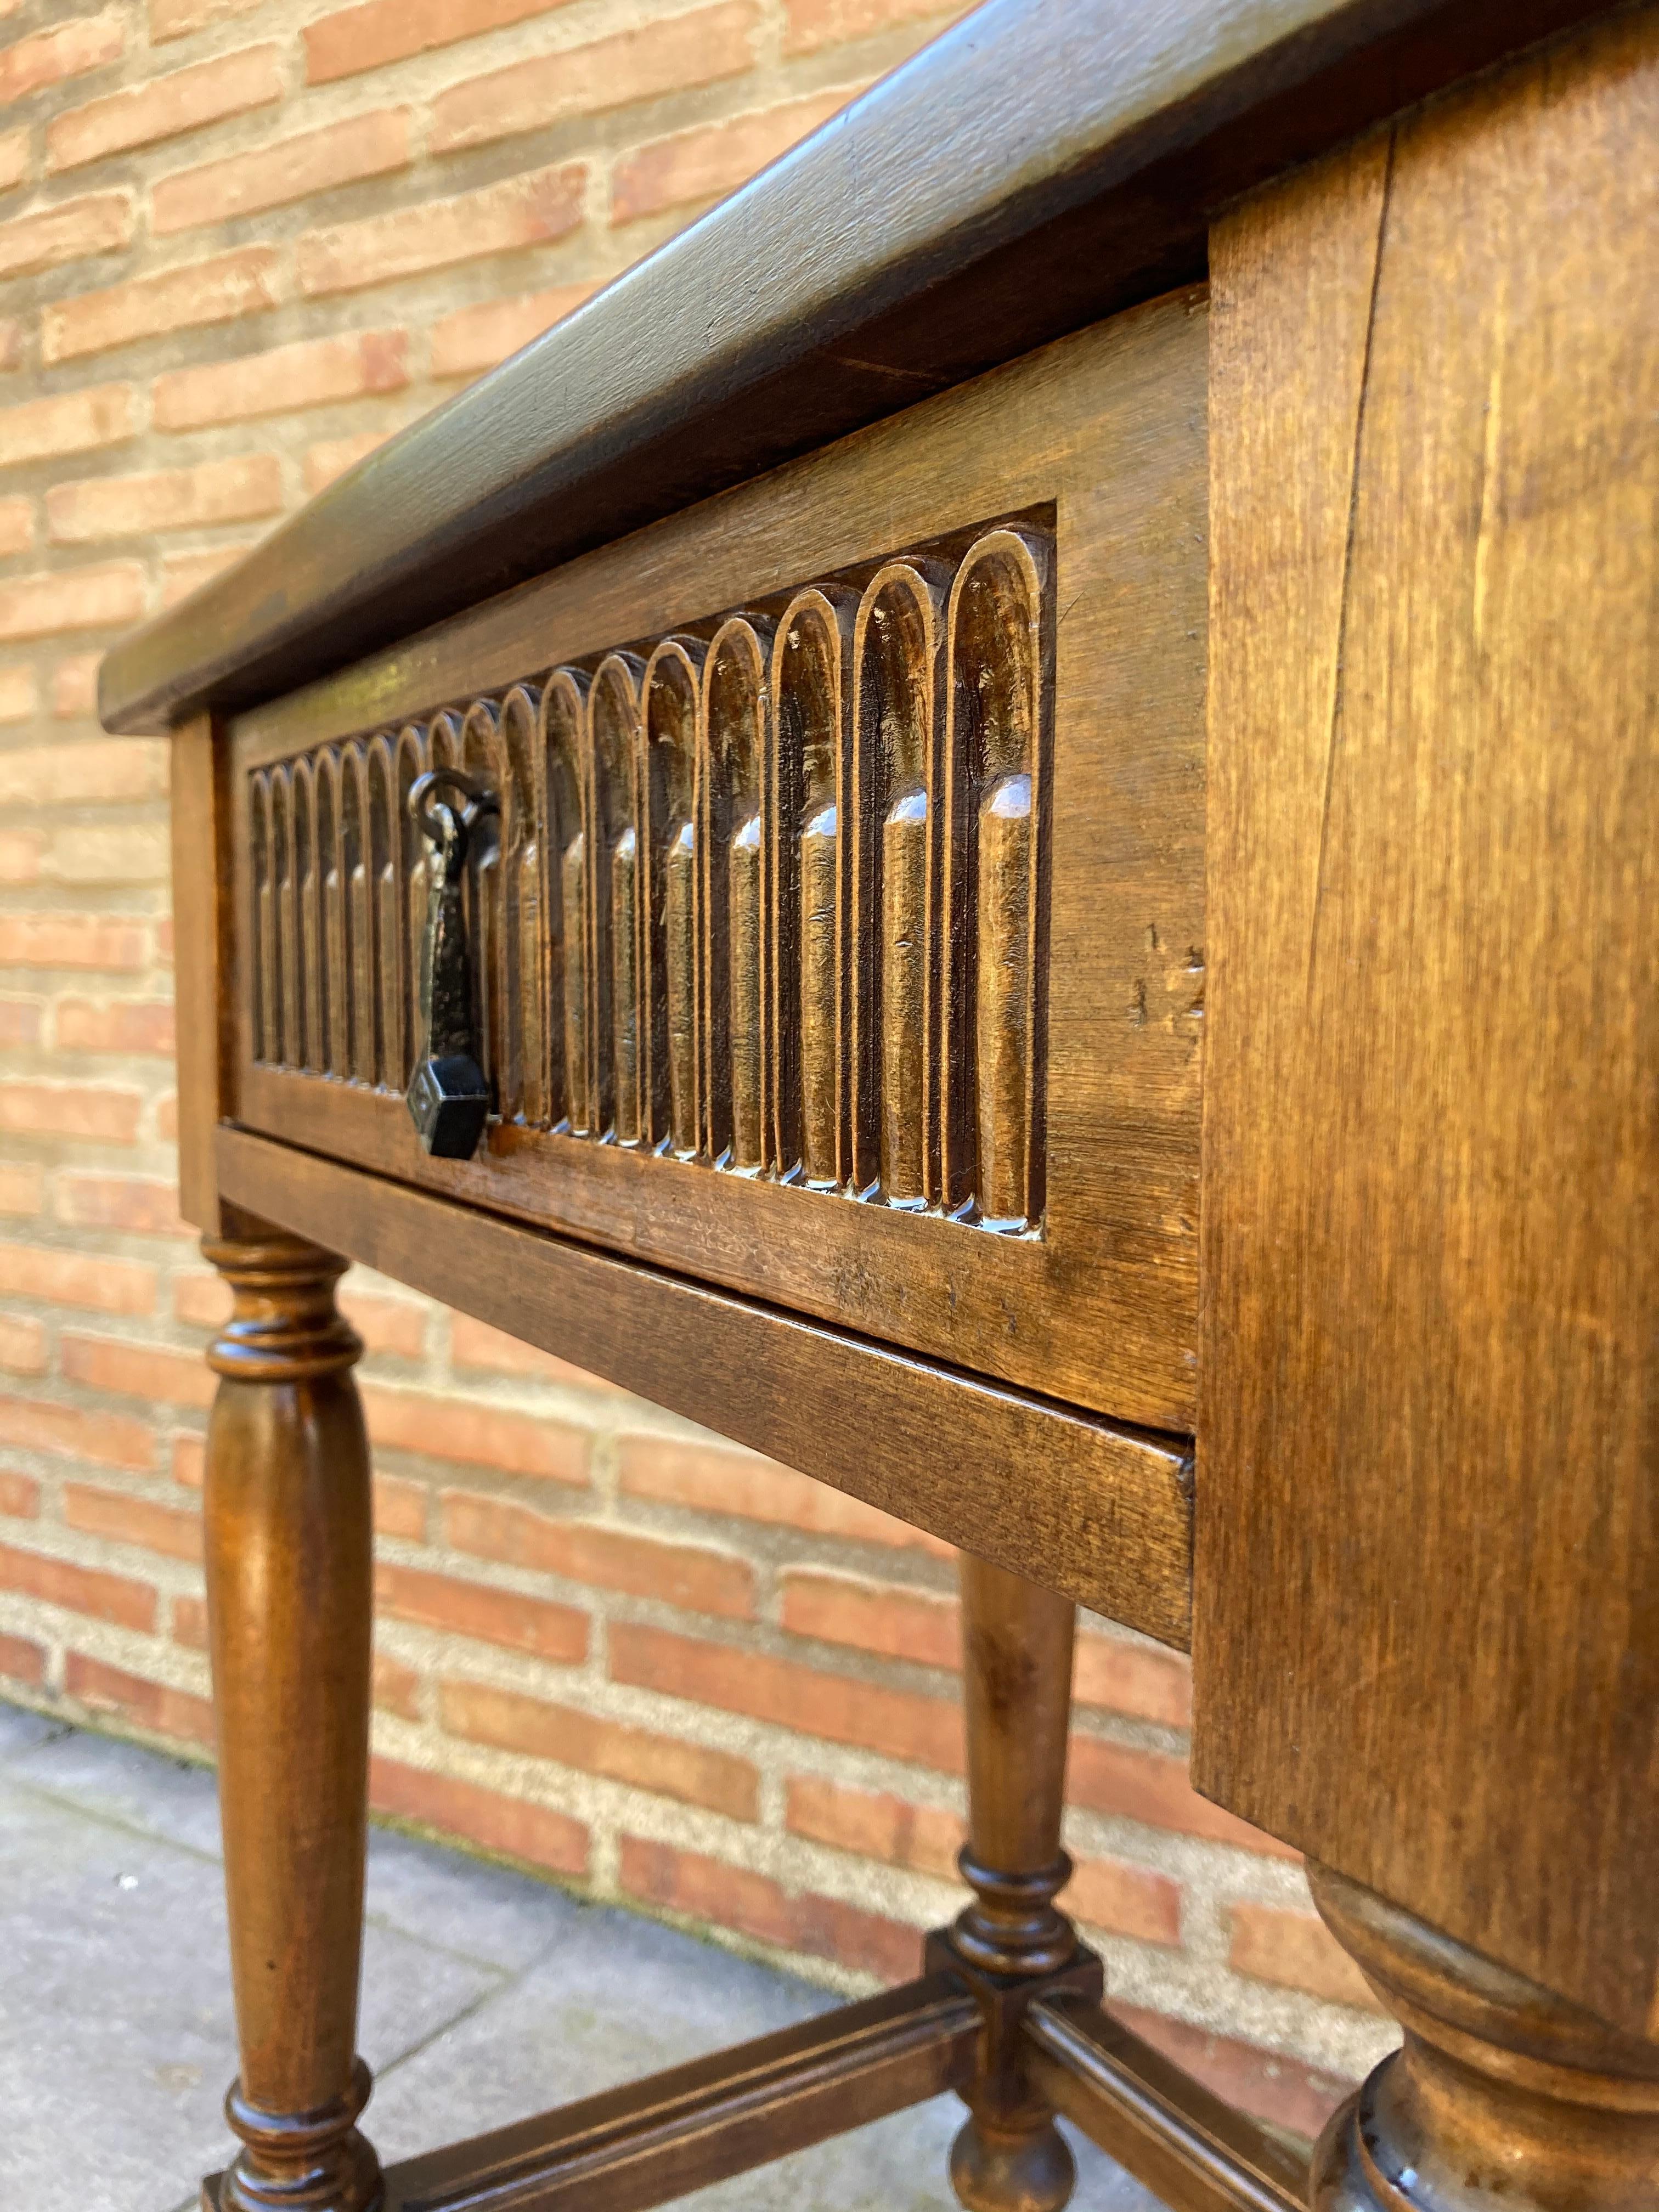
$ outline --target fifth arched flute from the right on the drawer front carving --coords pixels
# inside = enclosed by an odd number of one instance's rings
[[[697,1152],[697,703],[703,644],[666,637],[644,675],[646,732],[646,1135]]]

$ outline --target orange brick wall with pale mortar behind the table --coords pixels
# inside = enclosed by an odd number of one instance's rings
[[[208,1743],[221,1292],[173,1206],[166,748],[97,653],[958,9],[0,0],[0,1672]],[[956,1905],[951,1559],[394,1285],[376,1805],[843,1986]],[[1121,2002],[1310,2132],[1389,2039],[1294,1858],[1086,1624],[1073,1907]]]

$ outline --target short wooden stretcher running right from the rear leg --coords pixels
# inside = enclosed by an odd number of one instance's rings
[[[1095,2002],[1037,1989],[1020,2008],[1033,2090],[1172,2212],[1303,2212],[1307,2161]]]

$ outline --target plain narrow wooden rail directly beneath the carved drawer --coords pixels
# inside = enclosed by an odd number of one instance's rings
[[[221,1128],[219,1190],[522,1343],[1186,1648],[1186,1447]]]

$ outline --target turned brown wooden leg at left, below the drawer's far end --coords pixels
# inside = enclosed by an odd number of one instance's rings
[[[208,1624],[241,2154],[223,2212],[367,2212],[356,2132],[369,1756],[369,1449],[334,1307],[345,1261],[261,1223],[208,1239],[234,1314],[208,1352]],[[212,2203],[212,2197],[204,2197]]]

